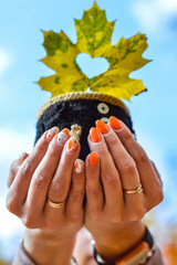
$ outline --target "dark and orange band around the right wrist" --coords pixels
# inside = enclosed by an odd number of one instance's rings
[[[124,255],[123,257],[117,257],[113,262],[105,262],[97,253],[94,243],[92,243],[94,247],[94,258],[98,265],[138,265],[145,264],[147,259],[153,255],[155,251],[155,244],[153,235],[149,230],[146,227],[146,232],[143,241],[138,246],[133,248],[129,253]]]

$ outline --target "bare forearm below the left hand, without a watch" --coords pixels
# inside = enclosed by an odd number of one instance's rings
[[[28,256],[40,265],[70,265],[75,243],[75,236],[72,239],[59,240],[58,236],[41,233],[40,230],[27,230],[23,247]],[[18,261],[13,265],[25,264]]]

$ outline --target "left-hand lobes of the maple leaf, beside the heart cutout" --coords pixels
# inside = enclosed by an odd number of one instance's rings
[[[42,77],[38,84],[43,91],[52,93],[52,97],[74,91],[84,92],[87,88],[88,78],[82,73],[75,62],[80,53],[63,31],[43,32],[46,56],[41,60],[46,66],[55,71],[49,77]]]

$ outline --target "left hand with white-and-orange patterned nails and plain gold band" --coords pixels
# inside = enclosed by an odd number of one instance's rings
[[[73,240],[83,225],[85,177],[84,162],[77,159],[80,144],[67,134],[58,132],[56,127],[46,131],[22,165],[13,162],[10,171],[7,206],[30,229],[24,247],[34,259],[35,244],[31,244],[34,239],[59,244]],[[65,204],[53,209],[46,203],[48,198]]]

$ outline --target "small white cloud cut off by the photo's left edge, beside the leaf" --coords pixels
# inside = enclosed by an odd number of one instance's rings
[[[11,54],[8,51],[0,47],[0,77],[11,66],[11,64],[12,64]]]

